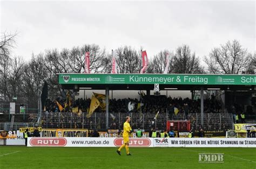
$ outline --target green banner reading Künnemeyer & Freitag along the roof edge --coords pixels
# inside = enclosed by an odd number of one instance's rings
[[[255,85],[255,75],[58,74],[59,84]]]

